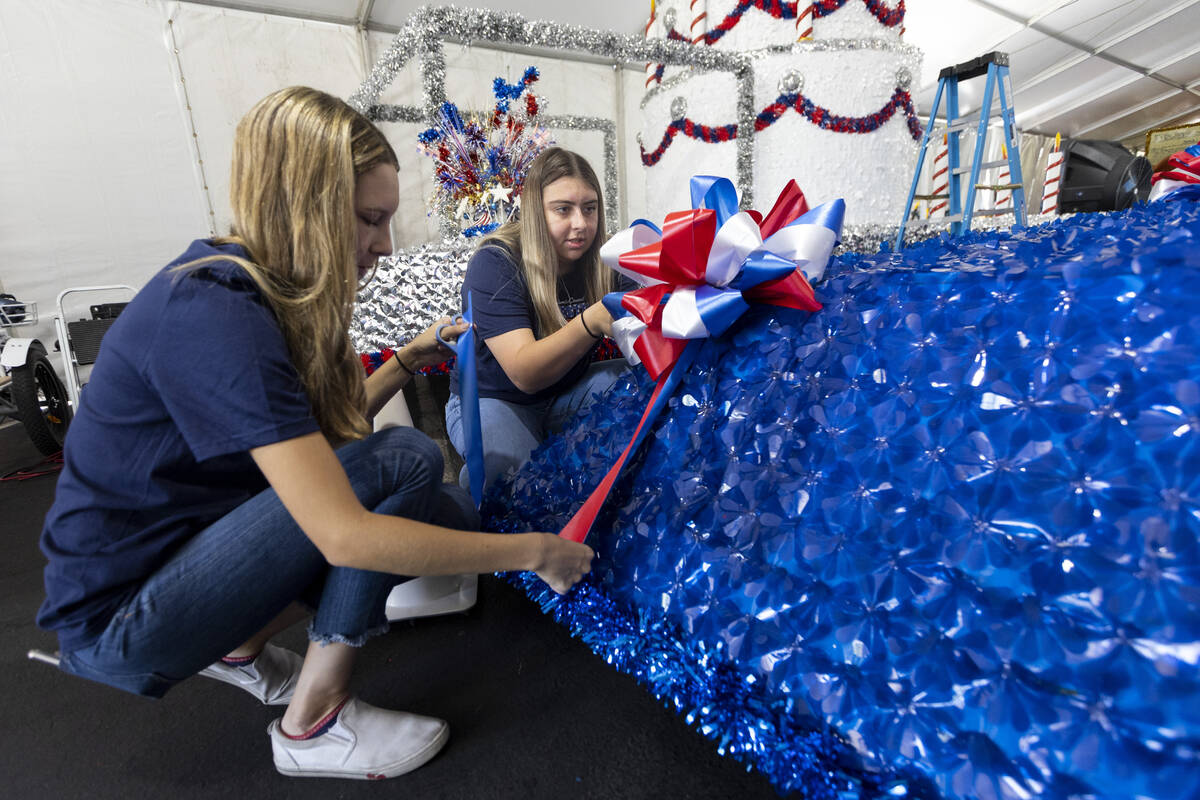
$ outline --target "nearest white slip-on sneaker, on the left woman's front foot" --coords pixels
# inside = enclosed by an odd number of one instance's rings
[[[329,730],[312,739],[289,739],[281,721],[266,727],[275,769],[296,777],[396,777],[437,756],[450,738],[442,720],[378,709],[355,697],[346,700]]]

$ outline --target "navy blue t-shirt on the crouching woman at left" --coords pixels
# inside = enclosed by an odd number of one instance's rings
[[[269,303],[232,261],[172,271],[235,245],[192,242],[104,335],[67,433],[42,530],[60,645],[94,639],[184,542],[266,488],[252,447],[318,431]]]

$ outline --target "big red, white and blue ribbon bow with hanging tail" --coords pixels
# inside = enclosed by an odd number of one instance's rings
[[[656,384],[625,451],[559,533],[566,539],[587,537],[622,468],[706,338],[722,335],[752,303],[821,308],[809,281],[824,273],[840,239],[842,200],[809,211],[796,181],[788,181],[764,217],[738,210],[728,179],[697,175],[691,204],[668,213],[661,229],[637,219],[600,249],[605,264],[642,287],[604,302],[622,353],[644,365]]]

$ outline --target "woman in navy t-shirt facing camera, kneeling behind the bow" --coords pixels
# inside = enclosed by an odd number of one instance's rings
[[[623,360],[590,365],[612,332],[601,300],[614,288],[600,261],[604,197],[578,154],[548,148],[529,166],[520,217],[484,239],[467,265],[472,299],[485,483],[523,464],[550,433],[607,390]],[[589,366],[590,365],[590,366]],[[446,432],[466,452],[457,375]],[[467,482],[463,469],[462,482]]]

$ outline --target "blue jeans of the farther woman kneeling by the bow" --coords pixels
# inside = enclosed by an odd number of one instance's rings
[[[534,447],[551,433],[557,433],[566,421],[582,411],[629,369],[624,359],[598,361],[569,391],[538,403],[522,405],[494,397],[479,398],[479,421],[484,432],[484,487],[527,461]],[[446,433],[460,456],[467,449],[462,435],[462,399],[450,395],[446,403]],[[467,468],[458,474],[458,483],[469,488]]]

